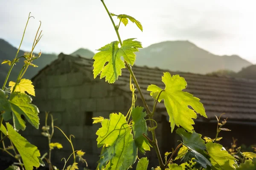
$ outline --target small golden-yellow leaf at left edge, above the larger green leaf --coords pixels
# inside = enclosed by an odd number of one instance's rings
[[[15,82],[10,81],[9,86],[11,87],[12,91],[13,87],[15,86]],[[20,93],[25,93],[26,91],[28,94],[35,96],[34,85],[32,85],[32,81],[29,79],[21,79],[20,82],[17,83],[15,91]]]

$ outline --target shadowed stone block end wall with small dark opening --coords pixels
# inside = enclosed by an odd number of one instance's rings
[[[39,130],[28,125],[22,132],[29,142],[35,144],[43,155],[48,149],[47,137],[41,135],[41,127],[45,125],[45,111],[52,113],[54,125],[60,127],[67,136],[72,138],[74,149],[83,150],[84,158],[90,168],[97,166],[101,148],[97,147],[96,131],[100,124],[88,125],[87,119],[96,116],[109,118],[109,113],[127,113],[131,103],[125,102],[125,97],[113,91],[113,85],[109,85],[104,79],[92,80],[82,72],[62,75],[43,75],[33,82],[35,84],[36,97],[32,103],[39,108]],[[86,124],[87,123],[87,124]],[[48,118],[50,125],[50,117]],[[52,142],[59,142],[63,149],[52,150],[52,161],[59,164],[63,157],[67,158],[72,149],[70,143],[57,128],[54,129]],[[63,162],[62,162],[63,163]]]

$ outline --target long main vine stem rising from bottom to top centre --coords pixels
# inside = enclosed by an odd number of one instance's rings
[[[104,3],[104,0],[101,0],[101,2],[102,2],[102,4],[103,4],[103,6],[105,7],[105,10],[106,10],[107,13],[108,13],[108,16],[109,16],[109,18],[110,18],[110,20],[111,20],[111,22],[112,22],[112,24],[113,24],[113,27],[115,28],[116,35],[117,35],[117,37],[118,37],[119,43],[120,43],[120,45],[122,46],[122,40],[121,40],[120,35],[119,35],[119,32],[118,32],[118,27],[116,27],[116,25],[115,25],[115,23],[114,23],[114,21],[113,21],[113,18],[111,17],[111,14],[110,14],[110,12],[108,11],[108,8],[107,8],[107,6],[106,6],[105,3]],[[139,85],[139,83],[138,83],[138,81],[137,81],[137,79],[136,79],[136,77],[135,77],[135,75],[134,75],[134,72],[133,72],[132,69],[131,69],[131,65],[129,65],[126,61],[124,61],[124,62],[125,62],[125,65],[126,65],[127,69],[129,70],[129,72],[130,72],[130,74],[131,74],[132,79],[134,80],[134,83],[135,83],[135,85],[136,85],[136,87],[137,87],[137,90],[139,91],[139,94],[140,94],[140,96],[141,96],[143,105],[144,105],[144,107],[145,107],[145,109],[146,109],[146,111],[147,111],[147,113],[148,113],[149,119],[153,119],[152,112],[151,112],[151,111],[149,110],[149,108],[148,108],[148,105],[147,105],[147,103],[146,103],[146,101],[145,101],[145,98],[144,98],[144,96],[143,96],[143,94],[142,94],[142,91],[141,91],[141,89],[140,89],[140,85]],[[150,120],[150,125],[151,125],[151,127],[153,127],[153,125],[154,125],[154,122],[153,122],[152,120]],[[161,168],[161,170],[164,170],[164,169],[165,169],[165,165],[163,164],[163,160],[162,160],[162,157],[161,157],[161,154],[160,154],[160,150],[159,150],[159,147],[158,147],[158,145],[157,145],[157,139],[156,139],[155,130],[152,130],[151,133],[152,133],[152,136],[153,136],[152,144],[153,144],[153,146],[154,146],[154,149],[156,150],[157,159],[158,159],[158,161],[159,161],[160,168]]]

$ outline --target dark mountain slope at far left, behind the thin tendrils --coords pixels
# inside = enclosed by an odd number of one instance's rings
[[[0,63],[3,62],[4,59],[9,59],[12,61],[17,53],[17,48],[13,47],[9,42],[6,42],[3,39],[0,39]],[[25,51],[20,50],[18,57],[22,56]],[[34,52],[37,55],[36,52]],[[24,75],[24,78],[31,79],[35,74],[38,73],[44,66],[57,59],[58,56],[56,54],[44,54],[42,51],[42,55],[39,59],[33,61],[33,64],[38,65],[37,68],[29,67]],[[19,62],[12,68],[12,72],[10,74],[9,80],[15,81],[17,79],[17,75],[19,74],[22,66],[23,66],[23,58],[20,59]],[[0,64],[0,85],[3,85],[7,72],[9,71],[10,66],[7,64]]]

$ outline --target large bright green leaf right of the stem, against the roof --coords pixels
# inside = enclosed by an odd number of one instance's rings
[[[195,124],[193,119],[197,118],[196,113],[207,117],[203,104],[199,102],[200,99],[194,97],[192,94],[182,91],[187,85],[183,77],[179,75],[171,76],[169,72],[166,72],[163,73],[162,82],[166,85],[166,88],[160,94],[158,101],[164,100],[172,131],[176,124],[178,127],[182,126],[187,131],[192,132],[192,125]],[[154,92],[160,92],[162,90],[157,85],[149,85],[147,89],[147,91],[151,91],[151,96]],[[188,106],[191,106],[195,111]]]

